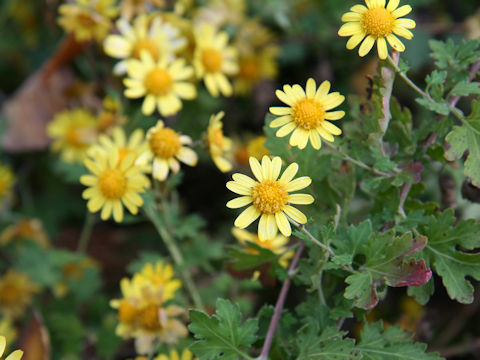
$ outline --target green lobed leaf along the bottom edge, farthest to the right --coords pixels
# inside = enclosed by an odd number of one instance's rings
[[[440,360],[437,353],[426,353],[427,345],[414,343],[400,326],[383,329],[382,322],[365,324],[356,349],[364,360]]]

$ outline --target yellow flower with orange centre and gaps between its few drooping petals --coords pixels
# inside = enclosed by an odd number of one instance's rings
[[[164,181],[169,169],[174,174],[180,171],[180,160],[189,166],[197,165],[198,156],[192,149],[184,146],[191,145],[190,136],[177,133],[175,130],[164,127],[163,121],[158,120],[157,125],[148,130],[148,144],[153,156],[153,177]]]

